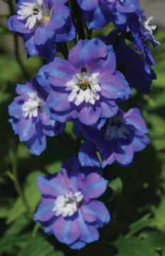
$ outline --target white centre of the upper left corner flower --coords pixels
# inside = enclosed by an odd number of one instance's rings
[[[17,11],[18,19],[23,21],[27,18],[26,28],[31,29],[37,23],[46,23],[50,19],[50,10],[43,6],[43,0],[33,3],[24,2]]]

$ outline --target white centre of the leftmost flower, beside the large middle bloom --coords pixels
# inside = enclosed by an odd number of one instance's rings
[[[37,117],[38,107],[40,107],[41,100],[35,91],[28,92],[28,96],[28,100],[22,105],[23,117]]]

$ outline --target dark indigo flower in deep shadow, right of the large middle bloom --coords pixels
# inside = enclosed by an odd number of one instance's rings
[[[108,36],[102,38],[107,45],[112,45],[115,48],[117,70],[124,75],[131,87],[135,87],[139,92],[151,92],[152,80],[156,79],[154,70],[147,73],[144,68],[144,60],[127,46],[119,33],[119,29],[115,29]]]

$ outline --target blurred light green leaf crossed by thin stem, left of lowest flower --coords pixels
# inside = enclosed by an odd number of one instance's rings
[[[42,174],[41,171],[33,171],[28,175],[25,186],[24,186],[24,195],[28,206],[33,213],[36,210],[36,206],[38,205],[41,194],[38,191],[36,179],[39,174]],[[9,213],[9,218],[7,219],[7,223],[10,224],[18,217],[26,213],[26,206],[23,205],[23,201],[21,198],[16,199],[16,203],[14,203],[13,208]]]

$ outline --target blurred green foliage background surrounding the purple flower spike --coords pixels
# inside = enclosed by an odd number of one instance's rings
[[[112,221],[100,230],[100,241],[74,252],[52,235],[44,235],[41,225],[33,222],[40,201],[36,177],[59,171],[74,152],[60,136],[48,139],[41,156],[31,156],[11,129],[8,105],[16,96],[16,83],[33,78],[43,60],[26,59],[21,38],[6,27],[14,1],[0,0],[0,255],[165,255],[165,1],[143,0],[141,4],[158,26],[155,38],[160,46],[152,49],[157,80],[151,95],[134,91],[124,107],[142,110],[152,143],[135,156],[132,166],[123,169],[113,164],[105,170],[105,176],[116,181],[102,198]],[[108,32],[104,28],[100,35]],[[72,122],[68,122],[66,134],[69,144],[78,147]]]

